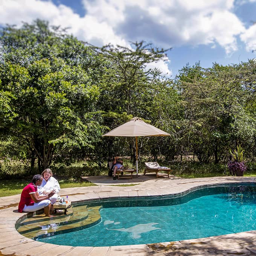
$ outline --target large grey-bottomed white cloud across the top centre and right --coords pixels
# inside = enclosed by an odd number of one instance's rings
[[[88,15],[111,24],[125,40],[146,40],[163,47],[219,44],[237,50],[244,32],[232,13],[234,0],[83,0]]]

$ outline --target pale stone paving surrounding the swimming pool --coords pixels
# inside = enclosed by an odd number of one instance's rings
[[[81,201],[109,197],[134,197],[167,195],[184,192],[196,186],[230,182],[256,182],[256,177],[212,177],[183,179],[177,177],[155,178],[140,175],[131,179],[113,181],[108,177],[88,177],[98,186],[61,189],[61,196]],[[136,186],[111,186],[137,183]],[[0,256],[88,255],[88,256],[171,256],[171,255],[256,255],[256,230],[183,241],[166,241],[157,244],[112,247],[72,247],[46,244],[26,238],[15,229],[15,223],[26,213],[17,212],[20,195],[0,197]],[[189,232],[189,230],[187,230]],[[104,239],[104,238],[102,238]]]

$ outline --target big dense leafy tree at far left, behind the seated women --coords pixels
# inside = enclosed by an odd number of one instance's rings
[[[0,35],[1,132],[26,143],[38,168],[47,168],[63,149],[93,147],[101,130],[99,86],[93,52],[59,27],[37,20]]]

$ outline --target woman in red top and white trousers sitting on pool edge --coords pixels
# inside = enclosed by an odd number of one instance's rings
[[[19,212],[35,212],[44,208],[45,215],[53,217],[50,215],[51,201],[49,198],[55,194],[55,190],[53,189],[48,195],[39,195],[37,186],[41,186],[42,182],[43,176],[37,174],[34,175],[32,183],[24,187],[20,195]]]

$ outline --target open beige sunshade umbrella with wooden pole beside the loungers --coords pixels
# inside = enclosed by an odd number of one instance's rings
[[[109,131],[103,136],[121,136],[121,137],[135,137],[136,138],[136,172],[138,175],[138,144],[137,140],[140,136],[171,136],[153,125],[145,123],[139,117],[133,117],[130,121],[118,126],[117,128]]]

